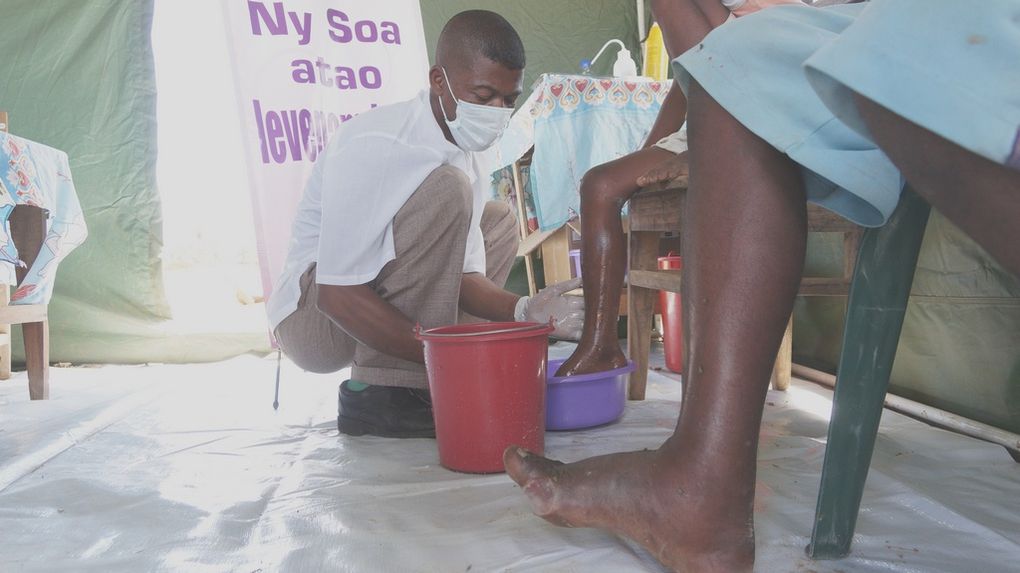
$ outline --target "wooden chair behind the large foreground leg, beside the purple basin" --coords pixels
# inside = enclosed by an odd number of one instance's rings
[[[665,231],[679,232],[683,223],[683,196],[686,177],[674,179],[638,193],[629,206],[628,242],[630,272],[627,285],[627,351],[635,369],[630,374],[630,400],[644,400],[648,382],[648,355],[652,316],[658,291],[678,293],[680,271],[658,270],[659,238]],[[808,205],[808,230],[839,232],[844,236],[844,269],[837,277],[805,277],[800,294],[805,296],[847,296],[862,228],[815,205]],[[776,389],[789,386],[793,352],[793,320],[786,325],[772,372]]]

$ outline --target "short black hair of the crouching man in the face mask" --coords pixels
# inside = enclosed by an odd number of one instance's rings
[[[524,44],[506,18],[489,10],[460,12],[443,27],[436,46],[436,63],[470,66],[479,56],[507,69],[524,68]]]

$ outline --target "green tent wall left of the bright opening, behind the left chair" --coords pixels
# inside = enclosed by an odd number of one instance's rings
[[[137,360],[141,349],[123,346],[169,317],[158,264],[152,2],[2,0],[0,12],[0,107],[13,133],[67,152],[89,225],[57,274],[51,358]]]

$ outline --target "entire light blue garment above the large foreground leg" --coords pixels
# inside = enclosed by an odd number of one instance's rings
[[[864,226],[886,221],[903,183],[851,90],[1020,168],[1016,0],[776,6],[718,28],[673,66],[685,92],[696,80],[799,163],[809,201]]]

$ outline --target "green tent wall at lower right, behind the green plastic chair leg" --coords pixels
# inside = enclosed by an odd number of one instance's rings
[[[965,190],[961,190],[965,192]],[[839,238],[812,236],[807,273],[837,275]],[[846,299],[794,310],[794,359],[834,371]],[[1020,281],[932,211],[890,382],[896,394],[1020,433]]]

